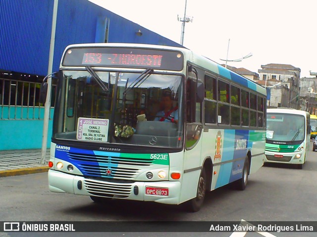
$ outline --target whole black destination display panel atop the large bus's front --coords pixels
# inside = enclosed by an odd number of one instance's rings
[[[152,48],[78,47],[66,51],[62,66],[154,68],[181,71],[184,56],[180,51]]]

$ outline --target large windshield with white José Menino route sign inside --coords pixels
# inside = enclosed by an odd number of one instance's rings
[[[60,71],[53,139],[179,148],[181,75]]]

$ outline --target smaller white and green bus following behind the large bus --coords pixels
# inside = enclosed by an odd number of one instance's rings
[[[301,169],[310,145],[310,114],[295,109],[267,109],[266,128],[265,162],[297,164]]]

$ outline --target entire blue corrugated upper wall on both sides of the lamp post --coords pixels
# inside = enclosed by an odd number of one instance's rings
[[[53,0],[0,0],[0,70],[47,75],[52,17]],[[88,0],[58,0],[53,71],[67,45],[94,43],[106,18],[108,42],[181,46]]]

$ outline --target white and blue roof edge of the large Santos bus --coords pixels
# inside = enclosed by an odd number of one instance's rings
[[[251,90],[257,91],[263,95],[266,95],[266,89],[261,85],[257,84],[253,80],[247,79],[223,66],[212,61],[211,59],[194,53],[193,51],[187,48],[181,47],[172,47],[172,46],[163,46],[163,45],[154,45],[154,44],[137,44],[137,43],[84,43],[84,44],[72,44],[68,45],[64,51],[71,47],[138,47],[138,48],[152,48],[152,49],[167,49],[167,50],[178,50],[184,54],[186,65],[187,61],[192,62],[196,65],[208,69],[211,73],[229,79],[239,85],[245,86]],[[63,54],[63,55],[64,55]],[[60,65],[61,66],[61,65]]]

